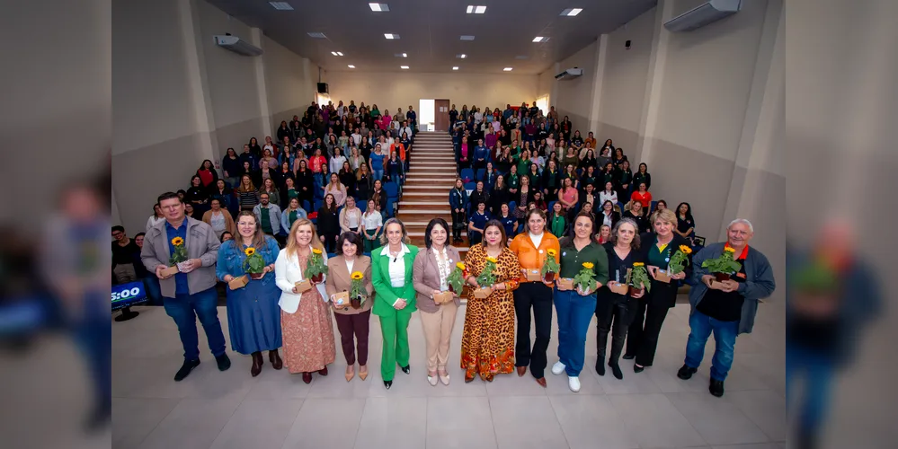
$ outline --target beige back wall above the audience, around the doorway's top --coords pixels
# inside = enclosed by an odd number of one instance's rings
[[[331,101],[366,105],[377,104],[380,110],[397,108],[404,111],[408,105],[418,108],[424,99],[449,99],[460,110],[463,104],[483,109],[505,108],[506,104],[528,103],[537,98],[537,75],[489,75],[489,74],[416,74],[328,72],[325,82],[331,93]]]

